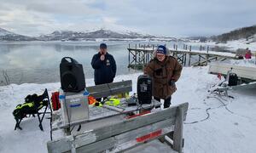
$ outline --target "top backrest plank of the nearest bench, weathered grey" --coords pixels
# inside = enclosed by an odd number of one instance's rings
[[[102,139],[108,139],[109,137],[113,137],[120,133],[129,132],[133,129],[151,125],[155,122],[161,122],[161,121],[165,121],[166,119],[175,118],[175,116],[177,115],[178,107],[183,108],[183,112],[180,112],[180,113],[182,113],[183,116],[185,116],[188,110],[188,106],[189,106],[188,103],[184,103],[178,106],[172,106],[163,111],[154,112],[144,116],[137,116],[136,118],[131,118],[129,120],[118,122],[107,127],[99,127],[88,132],[78,133],[74,135],[74,138],[76,139],[76,141],[80,142],[80,144],[76,146],[81,147],[86,144],[91,144],[96,141],[101,141]],[[66,141],[63,141],[63,140],[49,141],[48,148],[54,149],[56,145],[70,146],[69,142],[72,142],[73,139],[71,139],[70,137],[67,137],[65,139],[67,140]],[[79,139],[83,139],[83,141]],[[57,149],[55,148],[55,150],[58,150],[59,152],[68,151],[67,147],[66,148],[60,147]]]

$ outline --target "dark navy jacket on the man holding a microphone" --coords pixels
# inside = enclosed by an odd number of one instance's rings
[[[105,54],[105,59],[101,60],[101,54],[95,54],[91,59],[91,66],[94,71],[94,82],[103,84],[113,82],[116,74],[116,64],[111,54]]]

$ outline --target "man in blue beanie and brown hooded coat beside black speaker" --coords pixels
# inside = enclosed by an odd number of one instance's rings
[[[182,65],[167,52],[166,46],[158,46],[154,59],[151,59],[144,69],[144,73],[153,78],[154,99],[158,101],[164,99],[164,108],[171,105],[172,94],[177,90],[175,82],[182,71]]]

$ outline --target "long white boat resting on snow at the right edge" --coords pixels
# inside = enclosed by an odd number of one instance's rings
[[[235,61],[235,60],[234,60]],[[252,60],[236,60],[235,62],[214,62],[209,65],[208,73],[227,75],[228,71],[236,73],[237,77],[256,81],[256,65]]]

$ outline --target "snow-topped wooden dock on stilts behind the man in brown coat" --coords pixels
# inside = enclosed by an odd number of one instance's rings
[[[147,65],[149,60],[153,58],[154,53],[153,46],[137,45],[135,47],[127,48],[129,51],[129,65],[128,68],[143,69],[144,65]],[[208,65],[212,61],[224,61],[226,59],[236,59],[236,54],[229,52],[216,52],[210,51],[200,47],[200,50],[192,50],[192,47],[184,45],[183,48],[177,48],[177,45],[173,45],[173,48],[169,48],[170,55],[177,58],[178,62],[183,66],[196,66],[196,65]],[[204,50],[205,49],[205,50]]]

